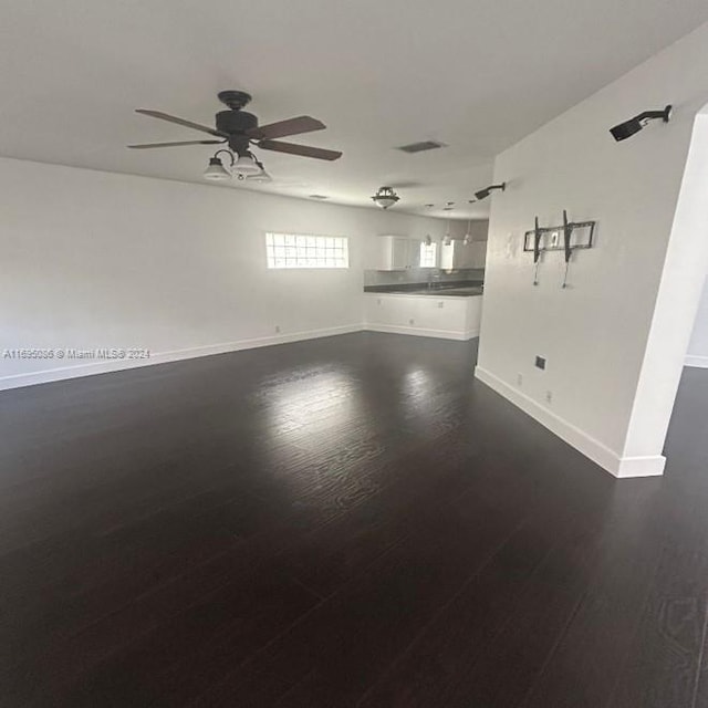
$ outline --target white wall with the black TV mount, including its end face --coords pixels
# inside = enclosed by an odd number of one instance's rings
[[[477,376],[618,476],[663,470],[706,273],[706,65],[702,25],[496,160],[508,187],[492,197]],[[667,103],[668,126],[624,143],[607,132]],[[534,216],[560,223],[563,209],[597,220],[596,248],[573,258],[566,290],[562,253],[546,254],[534,288],[523,233]]]

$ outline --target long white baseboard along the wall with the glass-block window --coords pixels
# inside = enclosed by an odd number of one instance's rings
[[[257,337],[252,340],[225,342],[222,344],[207,344],[205,346],[194,346],[190,348],[175,350],[171,352],[159,352],[156,354],[150,354],[150,357],[145,360],[110,360],[88,363],[83,362],[82,364],[77,364],[75,366],[62,366],[39,372],[30,372],[28,374],[13,374],[10,376],[0,377],[0,391],[21,388],[23,386],[34,386],[37,384],[46,384],[50,382],[65,381],[69,378],[80,378],[82,376],[107,374],[111,372],[119,372],[128,368],[137,368],[139,366],[167,364],[169,362],[179,362],[187,358],[197,358],[199,356],[227,354],[228,352],[239,352],[241,350],[250,350],[259,346],[272,346],[274,344],[288,344],[289,342],[316,340],[324,336],[361,332],[363,326],[361,324],[350,324],[336,327],[325,327],[323,330],[308,330],[305,332],[293,332],[291,334],[277,334],[274,336]]]

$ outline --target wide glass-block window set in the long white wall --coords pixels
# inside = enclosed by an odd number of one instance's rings
[[[350,243],[343,236],[267,233],[268,268],[348,268]]]

